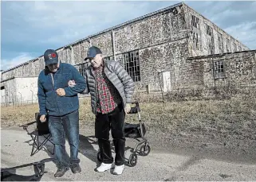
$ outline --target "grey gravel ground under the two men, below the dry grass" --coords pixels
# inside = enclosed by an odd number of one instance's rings
[[[198,135],[194,137],[175,136],[153,130],[148,130],[146,137],[152,149],[151,153],[147,157],[139,156],[135,167],[126,166],[123,175],[115,176],[111,172],[94,172],[98,146],[93,137],[93,127],[81,127],[79,149],[81,174],[75,175],[69,170],[65,176],[56,179],[53,177],[56,167],[53,163],[47,163],[45,164],[47,173],[42,176],[41,180],[256,180],[254,141],[226,140],[225,145],[223,140],[209,140],[207,137]],[[2,168],[53,157],[45,151],[30,157],[31,146],[27,143],[29,139],[30,137],[21,128],[2,128]],[[126,146],[128,148],[135,145],[136,141],[127,138]],[[69,153],[69,145],[66,145],[66,149]],[[129,157],[128,149],[125,157]],[[29,174],[31,169],[20,169],[17,170],[17,173]]]

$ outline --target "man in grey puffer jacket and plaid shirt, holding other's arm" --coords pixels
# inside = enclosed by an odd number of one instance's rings
[[[128,72],[114,60],[104,60],[100,48],[89,48],[85,60],[89,59],[89,67],[85,71],[85,80],[89,84],[84,93],[91,94],[93,114],[96,114],[95,136],[100,147],[102,163],[96,168],[104,172],[112,168],[113,158],[109,140],[112,132],[116,158],[114,174],[122,174],[124,170],[124,118],[131,107],[134,82]],[[76,83],[71,80],[69,86]]]

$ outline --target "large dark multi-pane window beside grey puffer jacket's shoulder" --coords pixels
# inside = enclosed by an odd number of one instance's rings
[[[140,59],[138,50],[124,53],[120,62],[124,65],[124,69],[132,77],[133,81],[140,81]]]

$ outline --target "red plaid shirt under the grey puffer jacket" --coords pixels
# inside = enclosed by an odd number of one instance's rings
[[[121,97],[116,87],[108,80],[104,74],[104,68],[94,69],[96,76],[96,111],[102,114],[107,114],[114,110],[121,103]]]

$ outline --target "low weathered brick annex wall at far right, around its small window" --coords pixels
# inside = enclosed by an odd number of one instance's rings
[[[214,62],[223,61],[224,74],[223,78],[215,78]],[[203,56],[188,59],[187,64],[195,65],[200,68],[195,69],[195,80],[203,87],[234,87],[252,86],[256,84],[256,51],[251,52],[234,52],[222,56]],[[187,85],[193,87],[197,83],[194,81],[187,82]]]

